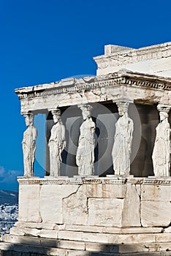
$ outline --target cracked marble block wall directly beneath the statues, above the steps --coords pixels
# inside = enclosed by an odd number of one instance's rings
[[[114,177],[114,176],[113,176]],[[19,178],[18,222],[168,227],[171,179]]]

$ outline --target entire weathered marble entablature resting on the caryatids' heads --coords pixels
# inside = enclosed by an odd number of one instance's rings
[[[34,87],[16,89],[20,99],[21,111],[47,113],[47,109],[80,105],[83,91],[87,102],[113,102],[123,99],[131,102],[171,105],[171,79],[143,72],[121,69],[110,74],[88,78],[68,78],[56,83],[45,83]]]

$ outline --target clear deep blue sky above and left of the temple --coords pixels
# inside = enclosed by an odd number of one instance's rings
[[[92,57],[104,45],[171,41],[170,10],[170,0],[0,0],[0,189],[18,189],[23,175],[26,127],[14,89],[95,75]]]

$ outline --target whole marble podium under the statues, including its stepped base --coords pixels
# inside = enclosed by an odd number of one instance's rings
[[[18,181],[19,220],[10,235],[1,238],[0,249],[24,244],[32,253],[35,246],[60,256],[170,255],[171,178],[112,175]]]

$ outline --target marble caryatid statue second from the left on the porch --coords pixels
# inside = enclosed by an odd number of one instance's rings
[[[61,121],[61,110],[52,110],[54,125],[48,142],[50,151],[50,176],[60,176],[60,166],[62,162],[62,151],[66,146],[65,127]]]

